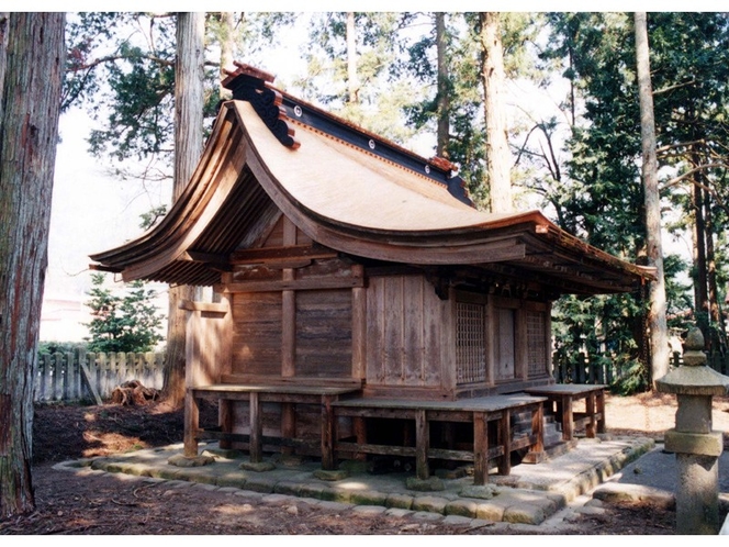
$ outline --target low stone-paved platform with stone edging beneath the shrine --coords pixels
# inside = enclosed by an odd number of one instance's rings
[[[408,490],[412,475],[370,475],[356,466],[343,466],[348,470],[346,477],[334,481],[330,476],[326,480],[317,478],[321,470],[317,461],[282,465],[272,457],[269,459],[272,466],[242,469],[245,455],[216,451],[215,444],[203,447],[205,454],[214,455],[214,464],[201,467],[177,467],[168,462],[182,453],[181,445],[69,461],[56,467],[167,480],[177,488],[192,483],[210,490],[237,490],[242,495],[244,492],[258,495],[262,502],[269,500],[267,503],[282,496],[296,496],[337,507],[358,506],[363,512],[407,511],[417,518],[472,520],[473,526],[483,526],[483,523],[536,526],[653,447],[649,438],[584,439],[553,459],[514,466],[508,477],[490,475],[486,489],[474,489],[472,476],[452,473],[448,476],[456,478],[441,478],[444,489],[433,492]]]

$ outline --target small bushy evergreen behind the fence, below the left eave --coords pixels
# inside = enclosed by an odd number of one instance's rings
[[[152,351],[164,339],[159,310],[153,303],[155,291],[134,281],[120,297],[103,287],[103,274],[93,274],[91,280],[87,305],[93,319],[86,324],[91,336],[85,338],[89,351]]]

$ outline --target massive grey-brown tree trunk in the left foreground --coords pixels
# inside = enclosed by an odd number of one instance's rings
[[[64,13],[0,14],[0,520],[34,510],[33,378],[65,62]]]

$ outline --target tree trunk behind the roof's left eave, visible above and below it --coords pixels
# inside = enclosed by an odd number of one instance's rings
[[[177,200],[184,190],[202,155],[204,101],[205,14],[178,13],[177,18],[172,200]],[[167,401],[176,408],[181,406],[184,401],[186,312],[178,309],[178,302],[194,298],[194,287],[173,287],[169,290],[162,391]]]

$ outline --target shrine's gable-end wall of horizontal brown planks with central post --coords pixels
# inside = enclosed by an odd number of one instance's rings
[[[362,268],[330,249],[312,254],[312,244],[282,215],[254,249],[269,252],[259,255],[265,264],[242,261],[229,276],[233,373],[359,378],[363,327],[354,301],[366,305]]]

